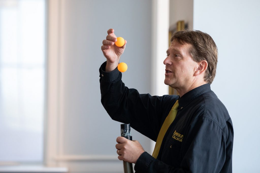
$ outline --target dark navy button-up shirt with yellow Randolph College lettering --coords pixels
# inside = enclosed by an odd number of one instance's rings
[[[151,96],[127,88],[117,69],[100,67],[101,102],[109,116],[156,141],[172,106],[179,100],[176,118],[168,128],[157,159],[147,152],[135,172],[232,172],[233,126],[229,113],[210,84],[184,94]]]

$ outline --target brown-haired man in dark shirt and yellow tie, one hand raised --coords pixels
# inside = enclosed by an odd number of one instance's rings
[[[153,156],[138,141],[118,137],[119,160],[136,172],[232,172],[233,127],[223,103],[211,91],[217,46],[201,31],[173,34],[164,60],[166,85],[179,95],[151,96],[125,87],[116,67],[125,50],[108,30],[101,49],[101,102],[113,120],[130,123],[156,141]]]

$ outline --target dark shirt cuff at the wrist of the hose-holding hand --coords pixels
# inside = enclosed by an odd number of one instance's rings
[[[138,172],[147,172],[149,170],[149,166],[155,160],[156,159],[153,156],[151,156],[147,152],[144,152],[140,155],[140,157],[136,161],[134,165],[134,170]]]

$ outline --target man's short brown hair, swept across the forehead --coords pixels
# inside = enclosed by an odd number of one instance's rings
[[[193,61],[207,61],[208,67],[205,71],[204,80],[211,84],[216,75],[218,49],[210,35],[198,30],[184,30],[174,32],[171,38],[171,42],[173,40],[180,44],[188,43],[192,45],[190,54],[193,58]]]

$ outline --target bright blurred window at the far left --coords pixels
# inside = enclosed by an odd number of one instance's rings
[[[0,0],[0,162],[43,162],[45,8]]]

